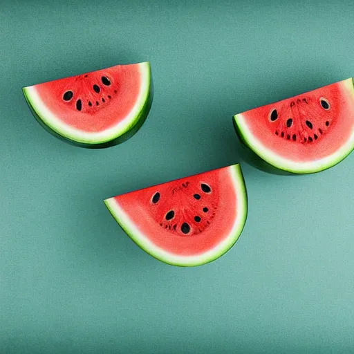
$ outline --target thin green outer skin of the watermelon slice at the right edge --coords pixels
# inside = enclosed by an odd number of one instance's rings
[[[353,88],[354,88],[354,78],[352,78],[352,82],[353,82]],[[338,165],[339,162],[342,162],[354,150],[354,146],[353,146],[352,149],[348,149],[348,151],[346,151],[342,156],[339,156],[339,158],[337,158],[337,160],[333,160],[328,165],[322,166],[322,168],[313,168],[313,169],[310,168],[310,169],[306,169],[306,170],[290,169],[285,165],[277,164],[276,162],[272,161],[271,158],[266,158],[265,156],[263,156],[262,151],[259,151],[258,149],[255,149],[254,147],[252,147],[252,142],[250,141],[250,138],[247,136],[247,134],[245,134],[245,132],[243,131],[243,129],[239,126],[239,124],[237,122],[238,116],[239,116],[239,114],[235,114],[233,116],[232,123],[233,123],[234,129],[236,131],[236,136],[238,136],[241,144],[244,147],[246,147],[246,148],[250,149],[251,151],[253,151],[254,153],[256,153],[257,156],[259,156],[259,158],[261,158],[264,162],[266,162],[271,167],[276,167],[277,169],[281,169],[283,171],[290,172],[292,174],[315,174],[317,172],[324,171],[326,169],[329,169],[330,167],[334,167],[335,165]]]

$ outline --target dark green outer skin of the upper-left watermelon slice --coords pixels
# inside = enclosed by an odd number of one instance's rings
[[[105,142],[97,142],[97,143],[88,143],[88,142],[80,142],[77,140],[73,140],[71,138],[68,138],[67,136],[64,136],[60,134],[59,132],[55,131],[54,127],[50,127],[48,124],[44,122],[44,120],[40,117],[39,113],[35,110],[35,106],[32,105],[27,93],[26,93],[26,87],[22,88],[22,92],[24,93],[24,97],[26,98],[26,102],[28,104],[28,107],[30,108],[30,111],[32,112],[32,115],[36,118],[37,122],[41,125],[41,127],[44,127],[46,131],[51,133],[53,136],[56,138],[59,138],[59,140],[62,140],[64,142],[68,142],[71,145],[75,145],[77,147],[86,147],[87,149],[104,149],[106,147],[113,147],[115,145],[121,144],[122,142],[127,141],[130,139],[133,135],[135,135],[138,130],[142,127],[142,124],[145,123],[145,120],[147,119],[147,116],[149,115],[149,111],[151,109],[152,101],[153,101],[153,80],[151,76],[151,65],[149,63],[149,90],[147,92],[147,97],[145,99],[145,103],[142,106],[142,109],[136,115],[136,118],[131,122],[129,127],[124,130],[124,132],[119,132],[118,135],[113,136],[110,140],[107,140]]]

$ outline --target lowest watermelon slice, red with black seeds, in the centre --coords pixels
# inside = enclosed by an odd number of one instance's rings
[[[239,239],[247,216],[240,165],[122,194],[104,203],[143,250],[180,266],[221,257]]]

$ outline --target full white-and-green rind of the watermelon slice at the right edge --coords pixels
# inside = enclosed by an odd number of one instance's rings
[[[352,91],[354,97],[353,79],[346,80],[346,85],[348,86],[348,89]],[[254,151],[254,153],[270,165],[282,169],[283,171],[291,172],[292,174],[313,174],[324,171],[325,169],[337,165],[354,150],[354,124],[351,137],[331,156],[313,162],[295,162],[283,158],[277,153],[273,153],[257,140],[257,138],[249,131],[247,123],[243,120],[242,113],[234,115],[233,123],[236,135],[239,137],[243,145]]]

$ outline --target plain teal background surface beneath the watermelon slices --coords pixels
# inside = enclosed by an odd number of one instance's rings
[[[102,200],[236,162],[232,115],[354,75],[353,1],[1,1],[1,353],[353,353],[354,154],[320,174],[243,163],[234,248],[176,268]],[[53,138],[22,86],[150,60],[140,131]]]

